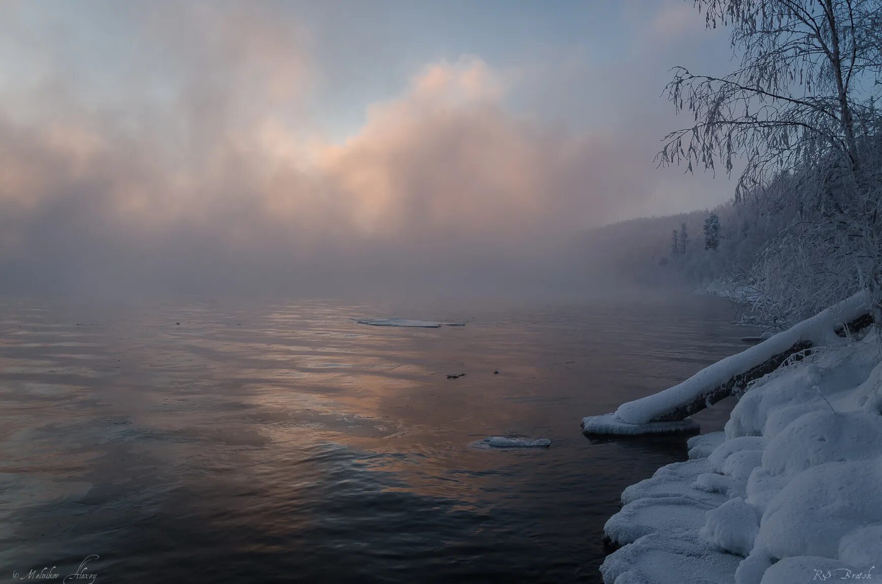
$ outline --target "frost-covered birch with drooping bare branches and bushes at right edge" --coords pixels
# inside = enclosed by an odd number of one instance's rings
[[[792,221],[751,281],[772,319],[792,322],[870,288],[882,309],[882,2],[696,0],[729,26],[741,63],[724,77],[675,69],[668,93],[693,124],[659,161],[729,173],[736,199]]]

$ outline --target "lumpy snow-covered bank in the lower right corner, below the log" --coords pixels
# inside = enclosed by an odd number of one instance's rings
[[[733,408],[725,432],[689,446],[691,460],[622,493],[622,510],[604,528],[624,546],[601,566],[606,584],[882,577],[875,333],[837,337],[766,374]]]

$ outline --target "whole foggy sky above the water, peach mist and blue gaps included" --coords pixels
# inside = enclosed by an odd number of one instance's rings
[[[425,10],[5,2],[3,290],[578,290],[597,286],[579,258],[602,252],[586,228],[727,196],[652,162],[676,121],[664,69],[726,54],[691,7],[452,6],[498,34],[451,17],[445,42],[407,36]],[[518,24],[534,16],[585,29]],[[602,20],[628,31],[621,52]]]

